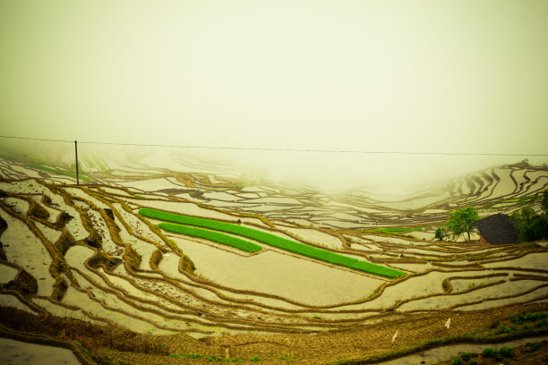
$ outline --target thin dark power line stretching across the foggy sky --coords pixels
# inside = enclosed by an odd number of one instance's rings
[[[30,137],[0,136],[0,138],[14,140],[40,140],[46,142],[64,142],[74,143],[74,140],[49,140]],[[178,149],[232,149],[243,151],[284,151],[284,152],[313,152],[313,153],[357,153],[364,155],[441,155],[441,156],[501,156],[501,157],[547,157],[548,154],[535,153],[476,153],[476,152],[412,152],[412,151],[364,151],[355,149],[265,149],[253,147],[233,147],[233,146],[184,146],[184,145],[165,145],[165,144],[143,144],[143,143],[115,143],[115,142],[94,142],[79,141],[83,144],[110,145],[110,146],[134,146],[134,147],[160,147],[160,148],[178,148]]]

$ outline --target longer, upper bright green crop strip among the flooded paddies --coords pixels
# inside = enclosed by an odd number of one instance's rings
[[[321,250],[309,246],[304,243],[287,240],[275,234],[257,231],[253,228],[244,227],[241,225],[233,225],[231,223],[219,222],[212,219],[198,218],[195,216],[183,216],[174,213],[168,213],[157,209],[141,208],[139,214],[150,218],[160,219],[167,222],[178,223],[182,225],[194,225],[203,228],[210,228],[216,231],[238,234],[247,238],[251,238],[258,242],[270,244],[270,246],[278,249],[288,250],[300,255],[307,256],[313,259],[330,262],[331,264],[344,267],[354,268],[366,273],[376,274],[386,277],[399,277],[406,275],[405,272],[395,268],[383,267],[381,265],[372,264],[371,262],[360,261],[358,259],[349,258],[338,253],[328,250]]]

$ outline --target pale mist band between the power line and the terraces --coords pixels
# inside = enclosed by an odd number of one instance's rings
[[[74,165],[72,142],[4,140],[0,156],[13,149],[32,156],[47,157],[53,166]],[[113,146],[79,143],[79,160],[98,156],[107,166],[143,166],[167,168],[181,173],[211,173],[255,183],[302,185],[326,193],[367,191],[377,196],[400,197],[436,183],[447,183],[466,174],[497,166],[516,164],[525,158],[533,166],[543,166],[546,157],[520,156],[447,156],[304,152],[245,149],[184,149],[176,147]],[[33,152],[34,151],[34,152]],[[35,153],[35,155],[33,155]],[[135,159],[137,158],[137,159]],[[287,163],[290,161],[290,163]],[[34,161],[39,162],[39,161]],[[193,163],[199,165],[189,168]],[[210,166],[208,169],[207,166]],[[115,168],[116,168],[115,167]]]

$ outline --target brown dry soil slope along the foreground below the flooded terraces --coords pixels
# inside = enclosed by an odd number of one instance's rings
[[[12,308],[0,308],[0,321],[4,333],[25,332],[27,335],[47,335],[69,343],[77,341],[100,364],[202,364],[210,363],[207,360],[210,356],[218,357],[218,361],[227,357],[244,362],[259,360],[265,365],[328,364],[337,361],[357,364],[362,363],[360,360],[365,357],[384,356],[396,351],[409,352],[417,345],[436,338],[445,338],[441,342],[451,343],[458,341],[458,336],[461,336],[458,342],[472,342],[469,339],[463,340],[462,335],[486,335],[489,329],[509,326],[510,314],[547,309],[548,304],[544,303],[471,312],[416,313],[381,324],[356,326],[344,332],[317,335],[220,335],[202,340],[187,335],[138,335],[120,327],[98,327],[75,319],[35,316]],[[451,318],[450,329],[443,326],[447,318]],[[392,344],[392,335],[397,330],[398,337]],[[547,331],[544,329],[544,332]],[[510,338],[538,333],[514,333],[510,334]],[[504,338],[508,338],[508,335],[492,335],[488,341],[497,342]],[[507,360],[514,362],[506,363],[543,363],[531,361],[541,361],[542,353],[545,355],[547,348],[544,347],[538,353],[528,353],[524,347],[523,351],[516,352],[515,359]],[[201,358],[189,359],[186,357],[189,354],[201,354]],[[484,361],[481,356],[479,359]],[[519,359],[529,362],[516,362]],[[494,363],[489,361],[478,363]]]

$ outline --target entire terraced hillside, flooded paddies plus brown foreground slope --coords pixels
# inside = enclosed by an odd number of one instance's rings
[[[79,346],[65,333],[45,340],[43,331],[16,323],[2,325],[2,333],[64,344],[82,363],[360,363],[496,329],[524,308],[548,308],[548,242],[480,247],[432,240],[457,208],[475,207],[480,216],[538,209],[533,198],[548,188],[541,167],[492,167],[390,199],[253,183],[186,164],[180,173],[138,158],[126,166],[95,162],[86,169],[90,180],[76,185],[72,175],[56,172],[62,167],[0,159],[0,303],[28,323],[75,318],[122,337],[131,331],[143,345],[92,345],[81,335]],[[242,227],[402,276],[287,250],[261,234],[222,231],[260,248],[242,250],[207,232],[162,229],[162,219],[141,209]],[[444,327],[448,318],[452,325]],[[535,331],[545,335],[544,327]]]

